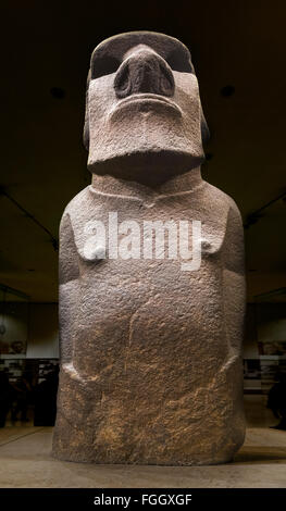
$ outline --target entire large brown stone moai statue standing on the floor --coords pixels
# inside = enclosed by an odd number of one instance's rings
[[[60,233],[59,459],[224,463],[244,441],[243,226],[201,178],[207,137],[182,42],[133,32],[95,49],[92,182]]]

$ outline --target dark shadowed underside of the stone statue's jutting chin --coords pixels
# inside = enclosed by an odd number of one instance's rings
[[[149,151],[133,149],[130,152],[116,154],[105,160],[89,158],[87,166],[92,174],[109,174],[115,178],[156,186],[176,175],[197,169],[203,161],[203,151],[192,154],[170,148]]]

